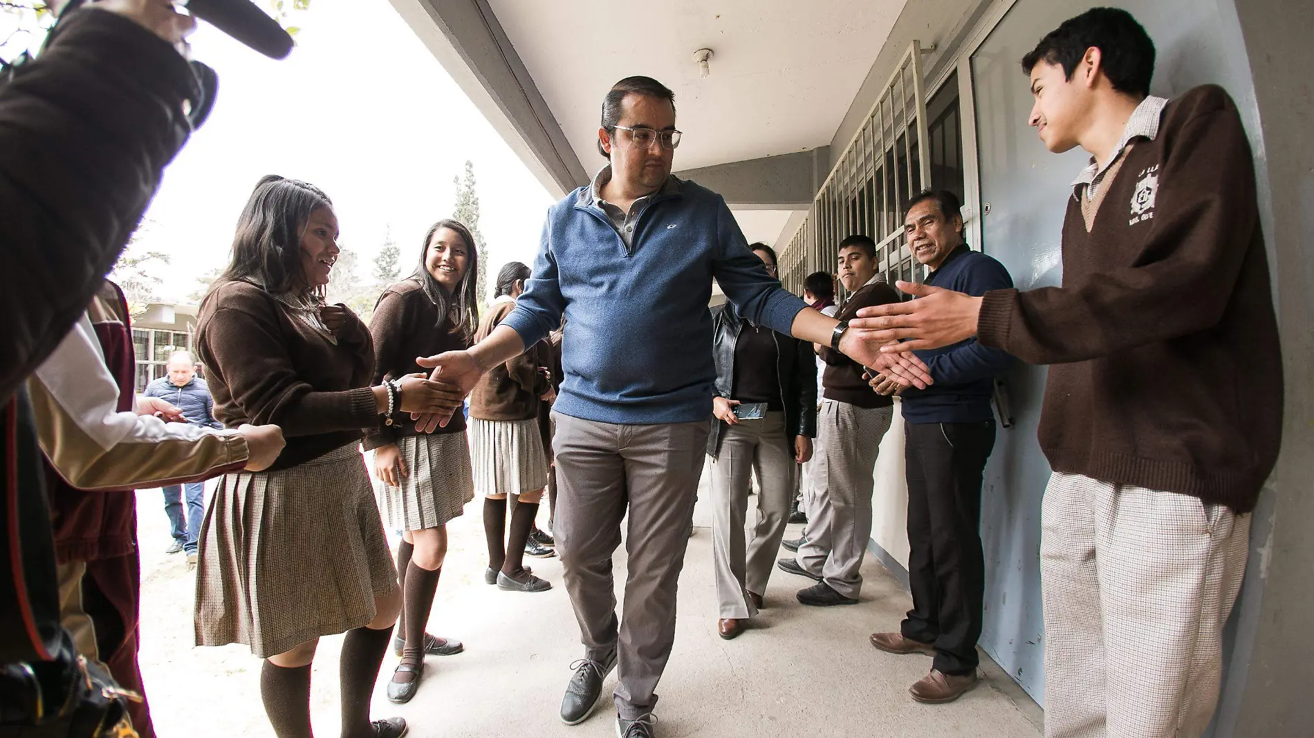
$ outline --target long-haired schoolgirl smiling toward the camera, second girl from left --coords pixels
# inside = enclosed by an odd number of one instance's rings
[[[478,271],[478,252],[465,226],[439,221],[428,228],[415,273],[384,290],[374,306],[369,323],[374,382],[422,372],[418,356],[469,348],[480,319]],[[365,431],[365,449],[374,450],[389,521],[403,531],[397,549],[402,616],[393,640],[402,661],[388,684],[388,699],[407,703],[419,689],[426,654],[463,650],[460,641],[424,633],[424,624],[447,555],[447,521],[474,498],[465,418],[456,412],[447,425],[419,433],[410,414],[398,410]]]

